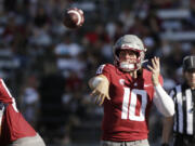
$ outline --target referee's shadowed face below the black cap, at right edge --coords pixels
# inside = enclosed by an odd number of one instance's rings
[[[191,69],[184,72],[187,83],[191,88],[195,89],[195,69]]]

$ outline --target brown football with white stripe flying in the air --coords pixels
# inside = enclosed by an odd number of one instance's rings
[[[63,16],[63,24],[69,29],[77,29],[83,25],[84,15],[81,9],[67,9]]]

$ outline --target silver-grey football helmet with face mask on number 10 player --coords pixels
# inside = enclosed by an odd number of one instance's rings
[[[136,53],[136,61],[133,61],[132,63],[120,62],[119,52],[121,50],[134,51]],[[119,38],[113,47],[115,65],[123,71],[139,70],[144,61],[145,52],[146,49],[139,37],[134,35],[125,35],[123,37]]]

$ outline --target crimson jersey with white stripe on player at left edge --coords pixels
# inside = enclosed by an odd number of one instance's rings
[[[36,131],[17,110],[15,98],[12,97],[2,79],[0,79],[0,103],[5,105],[1,123],[0,144],[5,145],[21,137],[36,135]]]

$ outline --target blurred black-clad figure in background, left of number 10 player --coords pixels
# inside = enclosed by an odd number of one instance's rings
[[[43,75],[40,78],[40,123],[39,129],[48,134],[49,140],[61,137],[65,127],[65,115],[63,111],[62,96],[65,92],[65,79],[56,70],[53,61],[43,64]],[[55,135],[55,132],[58,133]]]

